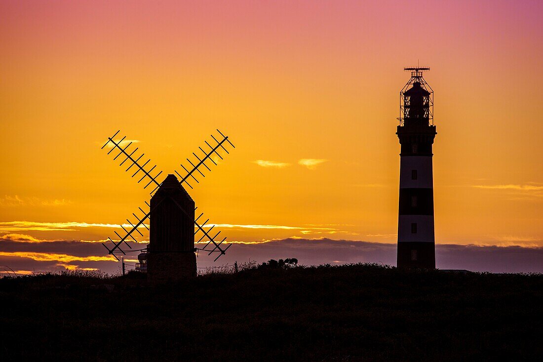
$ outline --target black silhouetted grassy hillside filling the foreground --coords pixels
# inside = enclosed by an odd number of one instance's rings
[[[105,285],[107,284],[107,285]],[[86,360],[540,360],[543,276],[375,265],[0,280],[0,355]]]

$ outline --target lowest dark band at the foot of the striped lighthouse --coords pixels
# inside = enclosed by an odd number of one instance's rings
[[[397,266],[399,268],[435,269],[434,242],[398,242]]]

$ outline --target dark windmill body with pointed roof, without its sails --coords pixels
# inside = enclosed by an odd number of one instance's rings
[[[151,198],[147,276],[149,280],[196,276],[194,201],[173,174]]]

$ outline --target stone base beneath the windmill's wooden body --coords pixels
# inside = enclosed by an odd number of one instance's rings
[[[194,252],[149,252],[147,280],[153,283],[175,282],[196,277]]]

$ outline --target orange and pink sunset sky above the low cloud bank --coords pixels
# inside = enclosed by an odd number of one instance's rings
[[[109,135],[167,174],[219,128],[236,149],[190,194],[229,240],[393,243],[398,92],[420,59],[436,242],[543,246],[542,10],[2,2],[0,232],[106,239],[112,228],[55,223],[122,223],[148,199],[100,150]]]

